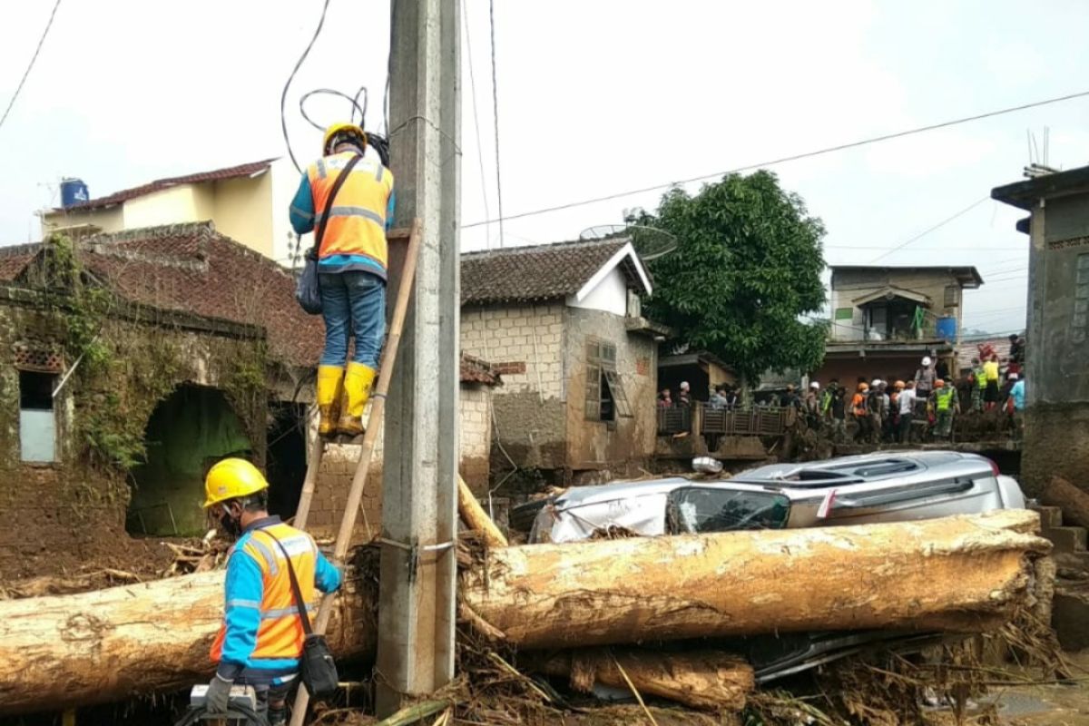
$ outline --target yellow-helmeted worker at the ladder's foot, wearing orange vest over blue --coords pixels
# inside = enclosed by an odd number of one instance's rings
[[[311,613],[316,590],[333,592],[341,576],[309,534],[269,516],[268,482],[249,462],[216,464],[205,494],[204,508],[224,534],[237,539],[227,561],[223,625],[211,645],[219,666],[208,687],[207,712],[224,713],[231,686],[249,685],[257,691],[258,713],[278,726],[285,723],[304,637],[286,557]]]

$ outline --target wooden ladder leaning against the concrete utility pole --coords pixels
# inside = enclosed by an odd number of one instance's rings
[[[367,482],[367,472],[370,470],[370,460],[375,452],[375,441],[378,439],[378,432],[382,430],[382,418],[386,414],[386,395],[390,390],[390,380],[393,378],[397,347],[401,345],[401,331],[404,328],[405,316],[408,311],[408,299],[412,297],[412,288],[416,280],[416,262],[419,259],[419,237],[420,222],[418,219],[413,221],[411,230],[391,230],[387,235],[391,246],[394,242],[405,239],[408,244],[404,254],[404,264],[401,268],[397,281],[396,304],[393,308],[393,318],[390,320],[390,332],[386,337],[382,362],[378,371],[378,382],[370,397],[370,415],[367,418],[367,430],[363,434],[359,460],[355,466],[352,487],[348,490],[347,503],[344,507],[344,516],[341,518],[340,530],[337,533],[337,544],[333,546],[333,564],[341,568],[344,566],[344,558],[347,555],[348,545],[352,541],[352,531],[355,529],[355,519],[359,512],[359,503],[363,500],[363,489]],[[295,510],[295,518],[292,522],[298,529],[306,528],[306,520],[310,514],[310,501],[314,499],[314,489],[317,483],[318,470],[321,468],[321,458],[325,455],[327,443],[321,436],[315,435],[314,442],[310,444],[306,478],[303,480],[303,492],[299,496],[298,507]],[[329,618],[332,615],[335,598],[337,593],[329,593],[322,596],[321,605],[318,607],[318,616],[314,620],[315,632],[325,632],[329,626]],[[302,726],[303,721],[306,718],[306,707],[309,700],[310,696],[306,692],[306,688],[299,685],[298,693],[295,696],[295,706],[292,711],[291,726]]]

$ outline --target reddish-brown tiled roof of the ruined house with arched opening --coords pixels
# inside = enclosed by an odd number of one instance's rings
[[[291,365],[314,366],[321,354],[321,317],[298,307],[292,276],[211,222],[94,235],[78,245],[86,269],[123,299],[261,325],[272,357]],[[14,280],[40,247],[17,255],[0,248],[0,280]]]

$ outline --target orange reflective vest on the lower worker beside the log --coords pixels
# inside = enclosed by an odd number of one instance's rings
[[[295,568],[295,577],[298,578],[298,589],[307,602],[307,611],[311,618],[317,608],[314,581],[318,549],[309,534],[279,522],[247,532],[238,540],[235,546],[241,545],[242,551],[253,557],[261,570],[261,623],[257,630],[256,647],[249,656],[250,662],[257,666],[260,661],[297,659],[303,653],[305,636],[298,608],[295,606],[295,598],[291,591],[291,577],[287,575],[283,552],[269,534],[280,540],[284,550],[291,555],[291,564]],[[223,624],[211,645],[211,660],[216,663],[222,659],[225,636],[227,625]]]

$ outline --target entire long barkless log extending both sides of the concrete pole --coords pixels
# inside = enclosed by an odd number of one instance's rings
[[[1050,543],[1026,510],[810,530],[497,547],[462,573],[467,607],[523,649],[791,630],[978,632],[1029,603]],[[375,647],[350,571],[330,642]],[[0,715],[119,701],[208,677],[223,573],[0,602]]]

